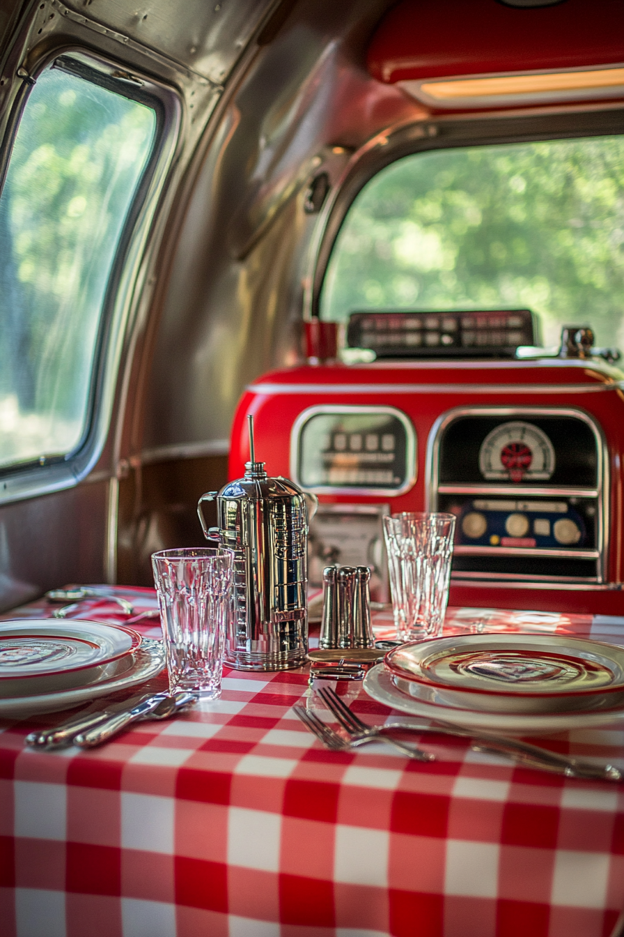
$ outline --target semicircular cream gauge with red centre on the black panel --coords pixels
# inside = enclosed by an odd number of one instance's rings
[[[514,420],[487,434],[479,451],[479,468],[486,479],[547,481],[555,471],[555,450],[539,426]]]

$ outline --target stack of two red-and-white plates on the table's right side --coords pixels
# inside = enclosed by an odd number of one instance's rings
[[[389,651],[364,683],[417,716],[505,732],[624,718],[624,647],[550,634],[465,634]]]

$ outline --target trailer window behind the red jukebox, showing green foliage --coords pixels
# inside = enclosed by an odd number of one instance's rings
[[[406,156],[351,206],[321,316],[358,309],[530,308],[545,345],[588,322],[624,346],[624,138]]]

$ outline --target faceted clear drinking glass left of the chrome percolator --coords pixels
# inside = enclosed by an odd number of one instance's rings
[[[221,695],[233,560],[220,547],[152,554],[170,692]]]

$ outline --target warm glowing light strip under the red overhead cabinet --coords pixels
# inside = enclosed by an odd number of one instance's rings
[[[617,85],[622,85],[624,92],[624,68],[507,75],[499,78],[469,78],[452,82],[424,82],[420,88],[428,97],[447,101],[449,98],[506,97],[553,94],[558,91],[599,90]]]

